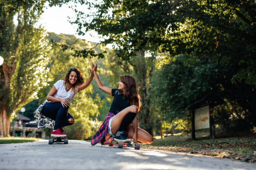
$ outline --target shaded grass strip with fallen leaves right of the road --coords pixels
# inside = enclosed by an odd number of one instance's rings
[[[173,152],[192,153],[197,155],[218,156],[220,158],[237,159],[256,162],[256,134],[236,134],[237,137],[216,135],[215,140],[207,139],[207,133],[196,133],[198,140],[191,140],[191,135],[179,133],[164,138],[154,139],[150,145],[142,148],[168,150]],[[232,136],[232,135],[231,135]]]

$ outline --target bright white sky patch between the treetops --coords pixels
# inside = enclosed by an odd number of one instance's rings
[[[42,25],[47,32],[55,32],[56,34],[71,34],[75,35],[77,38],[85,39],[91,42],[99,42],[102,40],[94,31],[87,32],[84,36],[77,35],[76,25],[69,23],[67,18],[68,16],[70,18],[74,18],[76,16],[74,11],[69,8],[69,5],[72,5],[72,3],[62,5],[61,7],[45,8],[44,13],[41,15],[41,19],[38,21],[38,25]],[[83,12],[86,12],[86,6],[77,5],[77,7],[79,10],[84,10]]]

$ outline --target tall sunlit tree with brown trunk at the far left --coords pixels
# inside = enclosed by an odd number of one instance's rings
[[[52,6],[66,1],[48,2]],[[46,85],[49,42],[42,28],[34,28],[45,2],[0,1],[0,55],[5,60],[0,71],[0,135],[3,136],[9,135],[12,113],[35,98],[36,92]],[[13,23],[15,15],[17,25]]]

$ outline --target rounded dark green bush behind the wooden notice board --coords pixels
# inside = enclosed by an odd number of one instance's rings
[[[178,55],[154,75],[150,85],[152,109],[161,110],[166,120],[189,116],[185,110],[192,107],[202,95],[218,92],[219,72],[221,70],[216,63],[196,61],[193,57]]]

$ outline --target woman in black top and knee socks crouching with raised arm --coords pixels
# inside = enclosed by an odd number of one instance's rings
[[[108,115],[95,133],[91,144],[101,142],[102,145],[111,143],[113,139],[124,142],[128,138],[134,143],[152,143],[152,136],[138,128],[137,112],[140,109],[140,96],[136,91],[136,82],[131,75],[123,75],[118,82],[118,89],[106,87],[97,75],[97,64],[93,66],[93,74],[100,90],[114,96]],[[132,125],[130,125],[132,123]],[[130,140],[131,141],[131,140]]]

